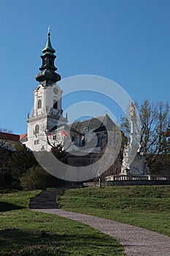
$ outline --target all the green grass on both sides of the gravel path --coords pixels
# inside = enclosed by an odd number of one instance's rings
[[[0,200],[0,256],[124,255],[114,239],[91,227],[28,209],[39,193],[7,192]],[[61,208],[114,219],[170,236],[170,186],[66,190]]]

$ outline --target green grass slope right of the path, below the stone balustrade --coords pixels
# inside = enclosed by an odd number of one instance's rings
[[[66,190],[58,197],[67,211],[113,219],[170,236],[170,186]]]

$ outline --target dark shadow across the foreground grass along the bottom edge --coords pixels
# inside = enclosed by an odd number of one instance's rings
[[[37,230],[19,230],[19,229],[5,229],[0,230],[0,251],[3,256],[18,255],[18,256],[55,256],[55,255],[72,255],[73,251],[86,252],[92,255],[94,251],[98,252],[99,247],[104,249],[112,249],[117,252],[116,255],[122,255],[123,249],[117,243],[112,243],[106,237],[96,236],[96,234],[50,234],[45,231]],[[5,249],[4,249],[5,248]],[[2,256],[0,253],[0,256]],[[73,254],[74,255],[74,254]],[[79,254],[75,254],[79,255]],[[103,255],[103,254],[102,254]],[[105,255],[105,254],[104,254]],[[107,254],[106,254],[107,255]]]

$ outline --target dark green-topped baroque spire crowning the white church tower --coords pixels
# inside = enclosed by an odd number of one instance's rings
[[[58,82],[61,80],[61,75],[57,72],[57,67],[55,67],[55,49],[52,47],[50,42],[50,27],[48,27],[48,34],[47,34],[47,43],[45,48],[42,50],[43,55],[42,58],[42,67],[39,68],[41,71],[39,74],[36,75],[36,81],[42,84],[42,86],[50,86],[53,83]]]

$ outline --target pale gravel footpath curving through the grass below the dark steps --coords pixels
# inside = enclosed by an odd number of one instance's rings
[[[169,236],[110,219],[101,219],[61,209],[34,209],[33,211],[56,214],[94,227],[119,241],[125,248],[126,256],[170,256]]]

